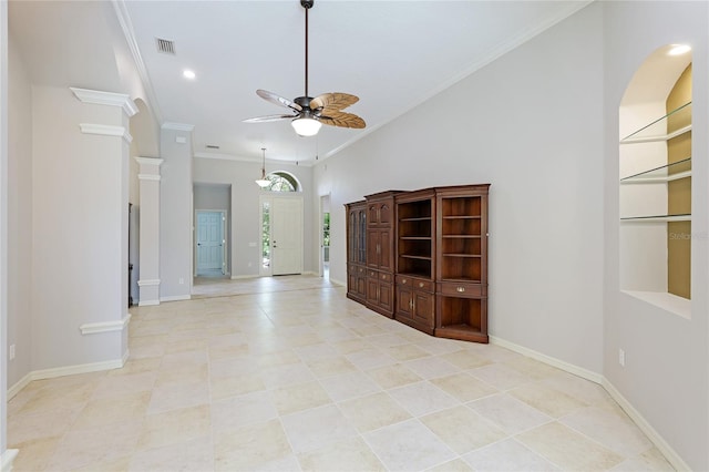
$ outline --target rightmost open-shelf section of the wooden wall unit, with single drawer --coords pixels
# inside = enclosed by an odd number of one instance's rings
[[[487,342],[487,189],[436,189],[435,336]]]

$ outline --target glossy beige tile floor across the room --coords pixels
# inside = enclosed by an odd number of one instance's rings
[[[422,335],[318,277],[202,286],[131,310],[124,368],[11,399],[16,471],[671,470],[578,377]]]

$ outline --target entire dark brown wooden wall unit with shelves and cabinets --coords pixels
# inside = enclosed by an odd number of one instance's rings
[[[388,191],[347,208],[347,296],[429,335],[487,342],[490,184]]]

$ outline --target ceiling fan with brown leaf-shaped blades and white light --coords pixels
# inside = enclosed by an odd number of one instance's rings
[[[314,136],[320,131],[322,124],[339,127],[363,129],[364,120],[360,116],[346,113],[342,110],[359,101],[359,98],[349,93],[331,92],[316,98],[308,95],[308,10],[312,8],[315,0],[300,0],[306,10],[306,92],[304,96],[288,100],[266,90],[257,90],[261,99],[280,106],[290,109],[290,114],[257,116],[244,120],[246,123],[264,123],[279,120],[291,120],[292,127],[300,136]]]

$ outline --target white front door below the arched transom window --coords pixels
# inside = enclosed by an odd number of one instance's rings
[[[271,274],[302,273],[302,198],[275,197],[270,213]]]

